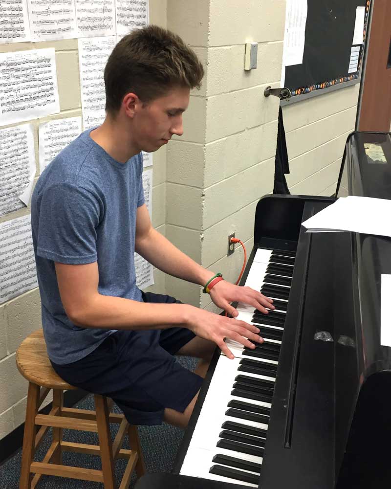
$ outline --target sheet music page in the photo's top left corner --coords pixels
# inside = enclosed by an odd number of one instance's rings
[[[31,41],[26,0],[0,0],[0,44]]]

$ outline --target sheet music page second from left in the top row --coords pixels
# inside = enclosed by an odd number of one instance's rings
[[[27,2],[33,42],[77,37],[74,0],[27,0]]]

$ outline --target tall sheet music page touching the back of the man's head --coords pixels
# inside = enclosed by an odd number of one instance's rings
[[[115,36],[79,39],[84,130],[99,126],[105,120],[106,94],[103,73],[115,44]]]

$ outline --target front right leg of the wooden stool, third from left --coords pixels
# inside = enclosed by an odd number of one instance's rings
[[[115,489],[113,452],[109,425],[109,409],[107,398],[98,394],[94,395],[96,421],[98,423],[98,436],[100,454],[102,459],[102,471],[105,489]]]

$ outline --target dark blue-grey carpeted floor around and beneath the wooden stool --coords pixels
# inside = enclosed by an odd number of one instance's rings
[[[178,357],[177,361],[189,370],[194,370],[196,365],[195,358]],[[93,397],[88,396],[80,401],[76,407],[81,409],[94,409]],[[115,406],[114,412],[120,412]],[[114,438],[118,426],[111,425],[111,434]],[[182,441],[183,431],[169,424],[163,423],[160,426],[139,426],[138,428],[141,444],[144,452],[144,460],[148,472],[169,472],[174,466],[176,453],[180,442]],[[97,444],[98,437],[95,433],[87,433],[81,431],[64,430],[64,440],[69,442]],[[46,436],[45,441],[40,446],[35,456],[36,461],[42,461],[51,442],[51,434]],[[124,448],[129,448],[128,438],[125,439]],[[17,489],[19,488],[19,474],[21,469],[22,450],[3,465],[0,466],[0,489]],[[65,452],[63,454],[65,465],[75,467],[86,467],[100,469],[100,459],[92,455],[83,455],[77,453]],[[122,474],[125,470],[126,460],[118,460],[116,463],[116,478],[117,484],[121,481]],[[130,488],[134,487],[135,475],[130,484]],[[37,486],[37,489],[97,489],[103,488],[103,484],[97,482],[77,481],[74,479],[64,479],[62,477],[43,476]]]

